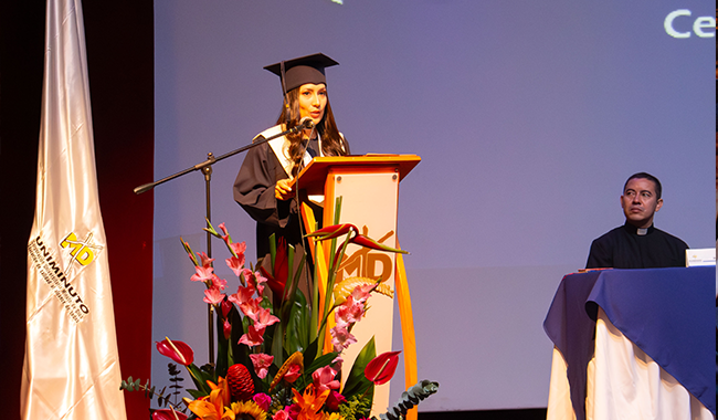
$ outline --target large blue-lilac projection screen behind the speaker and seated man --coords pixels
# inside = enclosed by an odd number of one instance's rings
[[[715,244],[711,6],[156,0],[155,174],[271,126],[282,97],[264,65],[336,59],[329,96],[351,150],[423,159],[401,185],[398,232],[411,251],[420,377],[441,384],[420,411],[546,407],[546,311],[590,241],[623,223],[629,175],[662,179],[656,227]],[[254,255],[254,222],[232,199],[242,159],[214,167],[212,217]],[[204,249],[203,178],[155,197],[152,339],[182,339],[207,360],[202,285],[179,241]],[[166,363],[155,354],[158,381]]]

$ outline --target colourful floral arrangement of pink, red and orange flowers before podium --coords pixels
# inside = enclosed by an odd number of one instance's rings
[[[293,246],[283,241],[276,243],[272,238],[272,269],[246,269],[245,243],[233,242],[223,223],[218,228],[219,231],[208,221],[205,231],[220,238],[231,253],[225,262],[240,283],[234,294],[228,293],[228,282],[214,273],[214,259],[203,252],[194,253],[182,240],[196,271],[190,280],[205,285],[203,301],[217,313],[217,364],[198,367],[190,346],[166,338],[157,343],[157,349],[186,367],[196,387],[186,390],[191,398],[177,400],[182,378],[173,364],[169,365],[173,384],[169,395],[165,389],[157,391],[149,381],[140,385],[131,377],[122,382],[120,389],[141,390],[149,398],[157,396],[160,406],[168,408],[151,410],[152,420],[368,419],[374,386],[391,379],[400,351],[377,356],[371,339],[348,370],[342,369],[341,354],[357,342],[351,327],[363,317],[371,294],[391,295],[391,291],[381,280],[349,277],[337,282],[336,273],[349,243],[405,252],[359,234],[352,224],[337,224],[308,234],[317,242],[332,240],[327,292],[321,293],[315,274],[309,302],[298,287],[305,255],[296,255]],[[340,237],[345,241],[336,248]],[[297,256],[300,260],[294,272]],[[348,376],[340,390],[340,376],[345,372]],[[436,382],[421,381],[380,418],[403,419],[410,408],[436,392],[437,387]],[[170,397],[175,397],[173,402]]]

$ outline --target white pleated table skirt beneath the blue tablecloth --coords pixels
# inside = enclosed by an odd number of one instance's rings
[[[629,340],[602,309],[587,372],[587,420],[712,420],[712,413]],[[574,420],[566,361],[553,348],[548,420]]]

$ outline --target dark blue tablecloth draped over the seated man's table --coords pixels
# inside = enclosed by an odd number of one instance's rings
[[[599,306],[613,325],[716,413],[716,269],[602,270],[569,274],[543,329],[568,365],[571,403],[585,419],[587,367]]]

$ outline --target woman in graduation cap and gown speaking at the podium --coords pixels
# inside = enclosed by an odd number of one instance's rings
[[[257,259],[270,253],[273,233],[302,252],[299,203],[289,181],[315,156],[349,154],[327,96],[325,69],[337,64],[319,53],[264,67],[279,76],[284,105],[276,125],[253,141],[300,125],[304,128],[250,149],[234,181],[234,200],[257,222]]]

